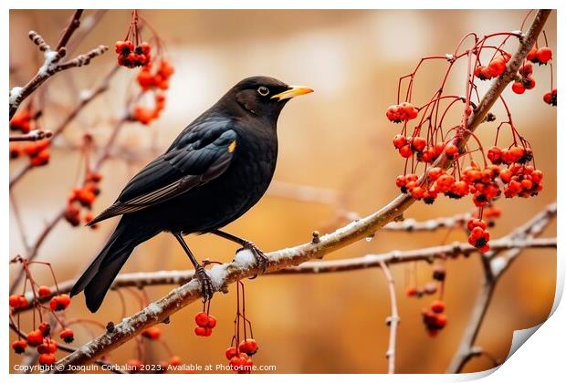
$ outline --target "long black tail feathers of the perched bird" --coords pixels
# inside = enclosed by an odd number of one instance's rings
[[[73,286],[70,295],[78,295],[84,290],[87,307],[92,313],[99,309],[110,285],[133,249],[159,233],[158,231],[144,231],[136,226],[126,217],[122,217],[108,243]]]

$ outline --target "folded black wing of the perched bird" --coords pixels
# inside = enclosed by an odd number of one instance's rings
[[[237,134],[228,119],[211,118],[183,130],[173,145],[142,169],[118,200],[89,224],[137,212],[214,180],[230,165]]]

